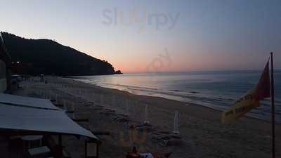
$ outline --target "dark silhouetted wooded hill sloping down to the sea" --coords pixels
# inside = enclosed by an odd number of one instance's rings
[[[63,46],[49,39],[25,39],[1,32],[13,62],[20,61],[23,74],[60,76],[119,74],[105,60]]]

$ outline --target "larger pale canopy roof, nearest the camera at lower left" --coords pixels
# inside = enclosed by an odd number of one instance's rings
[[[0,129],[65,133],[96,138],[74,121],[63,110],[43,110],[0,103]]]

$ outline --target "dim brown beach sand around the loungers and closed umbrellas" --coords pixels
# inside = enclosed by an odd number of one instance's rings
[[[102,88],[85,84],[73,79],[47,77],[48,84],[37,81],[22,81],[20,90],[15,94],[20,96],[46,96],[57,98],[58,103],[71,109],[74,106],[75,117],[87,118],[89,122],[79,123],[93,131],[108,131],[109,136],[98,136],[102,141],[100,157],[125,157],[133,145],[140,152],[173,152],[171,158],[269,158],[270,123],[259,119],[243,117],[235,124],[221,124],[221,112],[200,105],[182,103],[159,97],[138,96],[125,91]],[[163,147],[151,140],[152,133],[129,130],[122,122],[113,121],[112,116],[100,114],[101,110],[94,105],[126,113],[129,109],[132,121],[144,121],[145,105],[148,105],[150,124],[155,131],[173,131],[174,112],[180,112],[181,145]],[[126,106],[126,104],[128,106]],[[277,157],[281,157],[280,125],[276,125]],[[84,140],[74,136],[63,136],[63,145],[72,157],[84,157]]]

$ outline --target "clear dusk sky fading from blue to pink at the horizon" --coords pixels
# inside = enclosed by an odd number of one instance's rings
[[[1,3],[0,30],[53,39],[122,72],[281,68],[280,0],[29,0]]]

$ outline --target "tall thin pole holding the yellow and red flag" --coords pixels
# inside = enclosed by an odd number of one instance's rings
[[[274,108],[274,75],[273,75],[273,52],[270,53],[271,59],[271,137],[272,137],[272,158],[275,158],[275,108]]]

